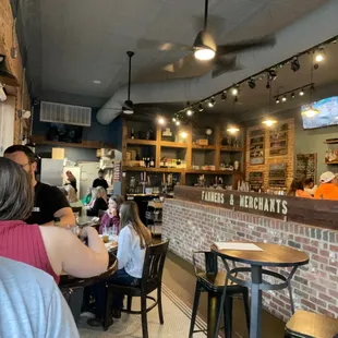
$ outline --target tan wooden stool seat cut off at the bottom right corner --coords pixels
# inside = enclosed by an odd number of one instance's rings
[[[290,338],[335,338],[338,319],[299,310],[286,326],[286,337]]]

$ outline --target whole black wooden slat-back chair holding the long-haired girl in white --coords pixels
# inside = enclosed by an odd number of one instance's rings
[[[123,294],[128,297],[126,310],[122,312],[129,314],[141,314],[143,338],[148,338],[147,313],[156,305],[158,306],[159,323],[164,324],[162,302],[161,302],[161,281],[162,271],[169,241],[149,245],[145,252],[143,274],[140,286],[126,287],[107,283],[107,303],[106,315],[104,319],[104,329],[107,330],[111,324],[112,297],[113,294]],[[157,300],[148,294],[157,289]],[[132,298],[141,297],[141,311],[132,311]],[[147,307],[146,301],[150,299],[153,304]]]

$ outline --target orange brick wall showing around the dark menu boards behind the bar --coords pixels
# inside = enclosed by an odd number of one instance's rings
[[[263,172],[264,176],[264,189],[267,190],[268,177],[269,177],[269,166],[274,164],[287,164],[287,188],[291,185],[294,176],[294,119],[287,119],[279,121],[279,124],[287,123],[289,126],[288,131],[288,154],[282,156],[269,156],[270,150],[270,140],[269,140],[269,128],[265,128],[264,137],[264,164],[263,165],[251,165],[250,164],[250,132],[254,130],[264,129],[262,125],[252,126],[246,130],[246,156],[245,156],[245,174],[246,180],[249,180],[250,172]]]

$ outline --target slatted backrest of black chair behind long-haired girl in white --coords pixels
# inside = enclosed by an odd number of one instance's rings
[[[141,289],[150,292],[160,286],[169,240],[147,246],[143,264]]]

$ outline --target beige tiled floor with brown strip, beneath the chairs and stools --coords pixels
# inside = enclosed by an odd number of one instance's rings
[[[165,325],[158,321],[157,309],[148,313],[149,338],[174,337],[188,338],[190,327],[190,315],[195,290],[195,277],[191,264],[169,253],[164,270],[164,316]],[[137,306],[136,300],[133,305]],[[202,294],[200,305],[200,329],[205,328],[206,321],[206,294]],[[241,301],[234,301],[233,309],[233,338],[246,338],[248,331],[244,322],[244,311]],[[82,338],[109,338],[132,337],[142,338],[141,316],[122,314],[108,331],[101,328],[93,328],[86,324],[86,318],[80,322],[80,334]],[[263,338],[282,338],[285,324],[263,313]],[[206,337],[205,334],[194,334],[194,338]]]

